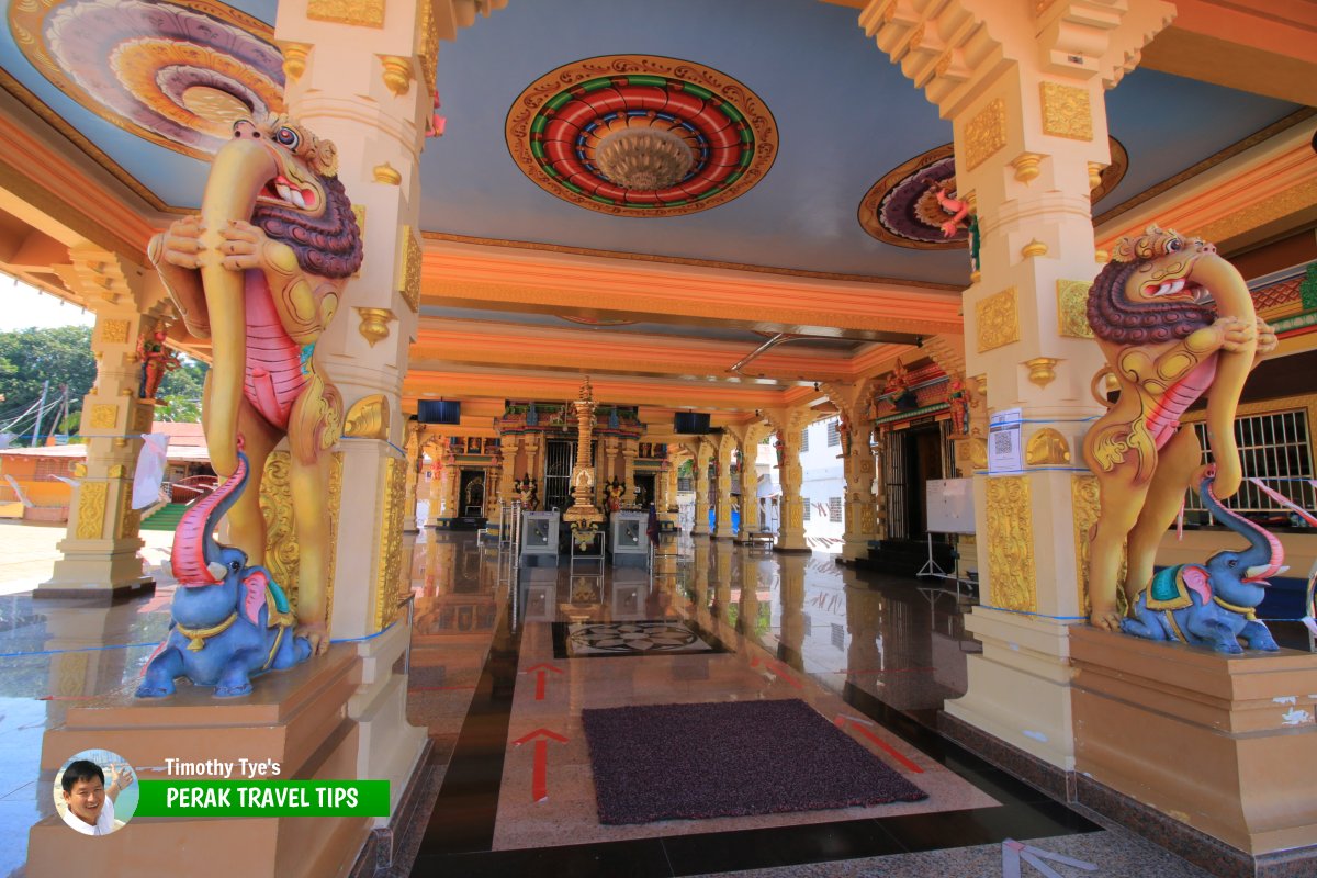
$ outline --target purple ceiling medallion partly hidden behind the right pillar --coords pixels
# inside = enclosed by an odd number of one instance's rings
[[[1102,171],[1092,196],[1096,204],[1125,176],[1129,157],[1114,137],[1110,138],[1112,163]],[[860,200],[860,225],[884,244],[915,250],[955,250],[965,246],[964,228],[954,236],[942,234],[942,224],[951,219],[938,204],[936,188],[956,190],[956,158],[952,145],[944,143],[915,155],[888,171]]]

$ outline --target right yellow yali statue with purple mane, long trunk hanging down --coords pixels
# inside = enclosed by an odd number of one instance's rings
[[[1198,437],[1180,426],[1180,416],[1206,399],[1213,488],[1218,500],[1234,496],[1243,479],[1234,437],[1239,394],[1258,358],[1275,350],[1276,334],[1213,245],[1158,226],[1117,244],[1089,291],[1088,321],[1108,363],[1094,390],[1108,374],[1119,386],[1114,404],[1098,396],[1109,408],[1084,438],[1084,462],[1101,491],[1089,621],[1118,632],[1121,549],[1133,607],[1185,490],[1206,475]]]

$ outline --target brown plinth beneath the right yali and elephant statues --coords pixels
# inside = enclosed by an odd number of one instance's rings
[[[1317,656],[1087,627],[1069,645],[1080,774],[1254,857],[1317,844]]]

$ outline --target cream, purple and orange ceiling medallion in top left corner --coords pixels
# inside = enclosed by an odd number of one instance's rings
[[[274,29],[211,0],[9,4],[9,29],[46,79],[144,140],[209,158],[234,117],[283,111]]]

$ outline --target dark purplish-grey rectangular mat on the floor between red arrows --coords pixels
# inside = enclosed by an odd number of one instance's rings
[[[928,798],[797,699],[586,710],[605,824]]]

